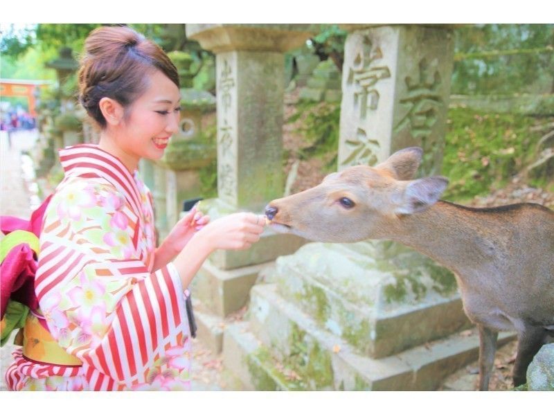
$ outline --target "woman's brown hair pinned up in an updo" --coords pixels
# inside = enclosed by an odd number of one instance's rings
[[[177,69],[168,55],[151,40],[125,26],[103,26],[84,42],[78,73],[79,101],[101,128],[106,120],[98,103],[111,98],[129,107],[148,87],[155,69],[179,88]]]

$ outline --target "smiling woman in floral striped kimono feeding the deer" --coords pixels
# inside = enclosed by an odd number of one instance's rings
[[[60,151],[65,177],[44,215],[35,277],[41,312],[28,317],[6,380],[12,390],[186,390],[184,291],[213,251],[257,242],[265,220],[210,223],[193,209],[156,249],[136,168],[160,159],[177,132],[177,70],[126,27],[98,28],[84,48],[80,102],[100,141]]]

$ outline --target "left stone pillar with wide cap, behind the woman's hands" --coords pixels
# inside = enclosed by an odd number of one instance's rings
[[[188,24],[186,30],[216,55],[218,197],[202,201],[201,209],[212,219],[242,210],[261,214],[284,189],[284,53],[301,46],[310,27]],[[217,316],[240,309],[260,266],[301,244],[266,231],[248,251],[215,252],[195,278],[197,297]]]

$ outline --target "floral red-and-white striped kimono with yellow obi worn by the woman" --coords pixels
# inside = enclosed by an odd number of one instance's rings
[[[27,318],[8,388],[190,389],[184,287],[172,262],[153,271],[150,192],[97,145],[67,147],[60,160],[39,237],[40,312]]]

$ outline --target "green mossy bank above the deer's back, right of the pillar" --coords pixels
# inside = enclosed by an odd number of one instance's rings
[[[530,148],[540,138],[534,123],[519,114],[449,109],[443,175],[450,183],[444,198],[470,199],[504,186],[534,155]]]

